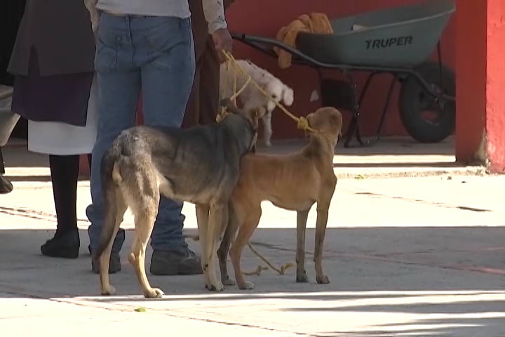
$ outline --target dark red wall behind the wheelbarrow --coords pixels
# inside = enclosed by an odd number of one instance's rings
[[[462,0],[459,0],[462,1]],[[474,1],[474,0],[466,0]],[[480,1],[480,0],[479,0]],[[229,8],[227,20],[230,30],[246,34],[255,34],[264,37],[275,37],[278,29],[297,18],[298,15],[311,13],[314,11],[326,13],[330,18],[344,16],[354,13],[362,13],[378,8],[388,8],[404,4],[419,3],[415,0],[236,0]],[[444,62],[454,69],[455,66],[455,22],[450,21],[442,38],[442,51]],[[311,92],[318,88],[317,76],[314,70],[308,67],[293,66],[287,70],[281,70],[274,58],[244,46],[240,42],[234,44],[234,53],[237,58],[249,58],[260,67],[272,72],[274,75],[285,81],[286,84],[295,90],[295,105],[290,109],[297,115],[305,115],[314,111],[320,103],[309,103]],[[328,74],[328,72],[325,73]],[[329,74],[337,77],[337,73]],[[386,76],[386,75],[384,75]],[[358,77],[357,77],[358,78]],[[363,82],[361,77],[358,85]],[[379,116],[382,112],[382,104],[386,97],[386,86],[384,81],[375,82],[370,88],[370,95],[363,103],[361,128],[365,134],[374,132],[377,128]],[[388,136],[405,135],[405,130],[398,117],[396,106],[397,93],[393,98],[393,105],[390,108],[384,134]],[[349,121],[350,114],[345,114],[346,121]],[[302,136],[297,131],[295,124],[290,119],[283,116],[281,112],[274,114],[274,138],[295,138]]]

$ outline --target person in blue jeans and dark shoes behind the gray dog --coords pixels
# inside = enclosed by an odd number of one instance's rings
[[[121,131],[135,125],[137,99],[142,90],[144,124],[180,127],[195,72],[194,42],[188,1],[97,0],[98,130],[90,187],[92,204],[86,209],[92,269],[104,218],[100,163]],[[203,0],[203,11],[217,52],[231,51],[222,0]],[[220,54],[222,57],[222,54]],[[182,235],[182,203],[162,198],[152,233],[154,275],[202,274],[200,259]],[[119,251],[125,239],[114,239],[109,272],[121,270]]]

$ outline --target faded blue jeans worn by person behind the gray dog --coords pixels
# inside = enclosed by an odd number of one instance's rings
[[[144,124],[180,127],[195,71],[189,18],[115,16],[102,13],[95,68],[99,87],[98,131],[91,167],[91,199],[86,209],[91,249],[97,249],[104,218],[100,162],[121,131],[135,125],[142,88]],[[182,203],[161,198],[152,233],[154,249],[180,250]],[[114,242],[113,251],[122,242]]]

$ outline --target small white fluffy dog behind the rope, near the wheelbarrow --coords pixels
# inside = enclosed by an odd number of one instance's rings
[[[274,75],[267,72],[267,70],[258,67],[250,60],[237,60],[236,62],[264,89],[264,91],[267,91],[274,100],[284,103],[284,105],[292,105],[295,99],[292,88],[286,86],[280,79],[274,77]],[[242,88],[247,79],[240,70],[235,70],[229,62],[221,65],[220,99],[229,98],[233,95],[235,76],[236,90],[238,91]],[[247,88],[242,91],[238,96],[238,100],[244,110],[266,110],[264,112],[264,117],[262,117],[264,127],[263,141],[265,145],[270,146],[270,138],[272,135],[271,114],[276,108],[275,103],[266,98],[253,84],[249,84]]]

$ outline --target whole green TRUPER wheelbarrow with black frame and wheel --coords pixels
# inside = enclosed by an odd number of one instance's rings
[[[354,135],[360,145],[379,140],[398,82],[403,126],[419,142],[438,143],[452,134],[455,124],[455,77],[443,65],[439,42],[455,10],[453,0],[431,0],[335,18],[330,21],[332,34],[301,32],[297,48],[266,37],[237,33],[232,37],[274,58],[274,47],[281,48],[293,55],[293,64],[314,68],[321,84],[321,103],[353,113],[345,147],[350,147]],[[434,49],[438,51],[438,62],[429,62]],[[346,80],[324,79],[323,69],[338,70]],[[359,95],[356,72],[368,73]],[[391,74],[392,78],[375,139],[365,141],[359,129],[360,110],[370,83],[378,74]]]

